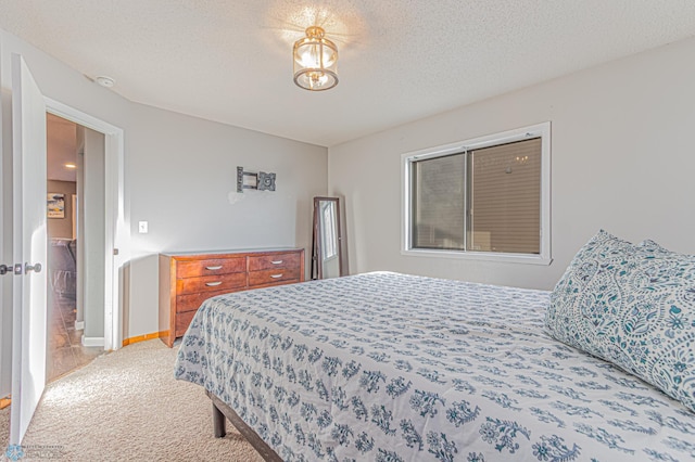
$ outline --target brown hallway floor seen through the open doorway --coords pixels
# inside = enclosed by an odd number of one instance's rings
[[[47,381],[52,382],[103,354],[101,347],[85,347],[83,331],[75,330],[75,298],[49,294]]]

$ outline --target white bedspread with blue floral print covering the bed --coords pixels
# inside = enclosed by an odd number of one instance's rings
[[[695,414],[552,339],[548,296],[390,272],[223,295],[175,376],[286,461],[695,458]]]

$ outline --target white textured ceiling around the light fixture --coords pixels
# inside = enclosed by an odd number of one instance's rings
[[[292,81],[313,24],[340,82]],[[0,0],[0,27],[153,106],[330,146],[695,35],[693,0]]]

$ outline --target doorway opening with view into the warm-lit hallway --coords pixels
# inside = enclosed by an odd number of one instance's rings
[[[46,116],[46,357],[47,381],[51,382],[103,352],[103,312],[86,316],[85,306],[100,308],[100,304],[91,300],[103,299],[103,294],[99,293],[102,292],[101,284],[92,283],[92,279],[103,273],[99,270],[103,268],[104,254],[87,255],[85,249],[91,248],[92,244],[103,248],[103,216],[90,210],[94,208],[90,204],[103,204],[104,140],[100,133],[50,113]],[[96,143],[101,145],[94,146]],[[88,196],[89,201],[86,200]],[[90,324],[89,329],[86,329],[86,322]],[[89,332],[91,336],[87,335]]]

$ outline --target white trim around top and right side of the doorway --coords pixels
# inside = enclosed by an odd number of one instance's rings
[[[118,349],[123,345],[118,275],[130,247],[124,204],[124,131],[50,98],[46,98],[46,108],[104,134],[104,350]]]

